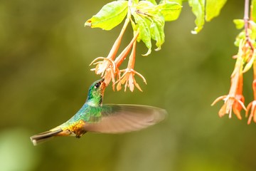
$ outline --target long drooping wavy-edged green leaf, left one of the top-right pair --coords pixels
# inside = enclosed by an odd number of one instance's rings
[[[203,24],[205,23],[205,4],[206,0],[188,0],[189,6],[192,7],[192,12],[196,16],[196,27],[194,31],[191,33],[196,34],[203,28]]]

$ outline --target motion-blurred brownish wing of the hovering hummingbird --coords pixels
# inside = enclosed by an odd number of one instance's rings
[[[102,105],[101,120],[87,123],[85,130],[95,133],[127,133],[164,120],[166,110],[146,105]]]

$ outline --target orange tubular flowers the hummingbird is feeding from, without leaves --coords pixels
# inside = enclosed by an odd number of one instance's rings
[[[142,88],[139,87],[139,84],[135,81],[134,78],[134,76],[137,74],[140,78],[142,78],[144,83],[146,83],[146,79],[144,78],[144,76],[142,76],[142,74],[138,73],[137,71],[134,71],[136,45],[137,38],[139,36],[139,30],[134,32],[134,37],[132,38],[132,41],[126,48],[124,48],[124,50],[119,54],[119,56],[116,57],[117,51],[122,40],[122,36],[124,35],[124,31],[127,28],[128,23],[129,19],[126,19],[122,31],[119,34],[117,40],[114,42],[114,45],[112,46],[109,55],[106,58],[95,58],[95,60],[92,61],[90,65],[94,64],[96,65],[96,67],[92,68],[91,71],[95,71],[96,74],[99,74],[102,78],[105,78],[106,86],[108,86],[110,82],[112,82],[113,90],[116,85],[117,90],[121,90],[122,85],[124,85],[124,91],[127,90],[127,87],[129,87],[129,90],[133,91],[134,86],[136,86],[139,90],[142,91]],[[125,60],[125,58],[127,58],[131,50],[132,52],[129,56],[127,68],[119,70],[119,66]]]

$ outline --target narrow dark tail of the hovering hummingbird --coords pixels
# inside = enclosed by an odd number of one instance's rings
[[[63,132],[62,129],[49,130],[44,133],[39,133],[37,135],[31,136],[31,141],[33,142],[33,145],[38,145],[41,142],[45,142],[46,140],[49,140],[50,138],[57,136],[61,132]]]

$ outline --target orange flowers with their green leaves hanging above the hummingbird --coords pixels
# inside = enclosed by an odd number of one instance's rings
[[[124,85],[124,91],[129,88],[133,91],[134,87],[137,87],[142,91],[139,84],[135,80],[134,76],[137,75],[144,83],[146,79],[142,74],[134,70],[135,62],[135,49],[137,41],[142,41],[148,51],[143,56],[148,56],[151,53],[151,41],[156,41],[155,51],[161,49],[164,43],[164,24],[166,21],[175,21],[178,19],[181,13],[181,4],[174,1],[112,1],[100,9],[100,11],[92,16],[85,22],[85,26],[91,28],[102,28],[104,30],[111,30],[115,26],[124,21],[117,40],[114,42],[110,53],[107,57],[98,57],[92,61],[91,65],[96,65],[92,71],[105,78],[105,84],[108,86],[112,82],[113,90],[117,87],[117,90],[122,89]],[[134,37],[129,45],[124,48],[122,53],[117,56],[117,51],[124,35],[128,24],[132,25],[134,31]],[[129,56],[128,66],[124,69],[119,69],[121,63]]]

